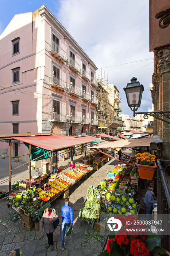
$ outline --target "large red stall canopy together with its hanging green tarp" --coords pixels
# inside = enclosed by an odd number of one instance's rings
[[[11,138],[16,139],[16,137]],[[17,137],[17,139],[24,142],[28,150],[29,145],[31,144],[31,161],[37,157],[39,157],[39,160],[50,158],[49,151],[51,150],[58,151],[59,149],[61,150],[79,144],[86,144],[96,140],[96,138],[92,136],[73,138],[65,135],[23,136]]]

